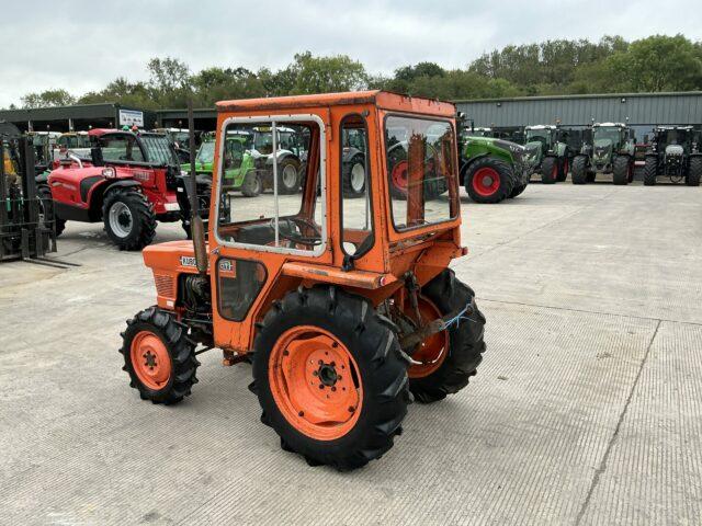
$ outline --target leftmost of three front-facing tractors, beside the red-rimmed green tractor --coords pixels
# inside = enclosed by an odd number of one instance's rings
[[[567,132],[552,124],[526,126],[526,160],[534,173],[541,174],[544,184],[562,183],[570,168]]]

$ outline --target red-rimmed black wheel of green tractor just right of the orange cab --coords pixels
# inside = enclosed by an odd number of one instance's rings
[[[465,171],[465,191],[476,203],[499,203],[514,190],[514,174],[507,162],[492,157],[473,161]]]

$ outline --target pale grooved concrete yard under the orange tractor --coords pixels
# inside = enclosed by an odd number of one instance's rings
[[[214,353],[185,403],[141,402],[117,334],[151,277],[100,227],[60,239],[80,268],[0,266],[0,524],[701,524],[702,188],[464,214],[486,359],[351,473],[283,453]]]

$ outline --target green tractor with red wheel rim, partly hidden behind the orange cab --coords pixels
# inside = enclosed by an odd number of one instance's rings
[[[499,203],[526,188],[531,168],[524,162],[523,146],[473,136],[472,128],[464,128],[458,148],[460,181],[476,203]]]

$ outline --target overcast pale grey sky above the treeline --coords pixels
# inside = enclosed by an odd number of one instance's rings
[[[333,5],[333,7],[330,7]],[[151,57],[276,69],[297,52],[347,54],[371,72],[421,60],[465,67],[484,52],[547,38],[702,39],[700,0],[33,0],[3,2],[0,107],[32,91],[79,95],[145,80]]]

